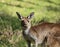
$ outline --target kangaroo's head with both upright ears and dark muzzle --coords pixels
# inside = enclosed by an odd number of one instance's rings
[[[30,19],[33,17],[34,12],[30,13],[29,16],[23,17],[18,12],[16,12],[18,18],[21,20],[21,26],[23,29],[31,27]]]

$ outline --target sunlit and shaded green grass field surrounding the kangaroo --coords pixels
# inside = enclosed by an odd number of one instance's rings
[[[16,12],[22,16],[35,12],[32,25],[43,19],[60,23],[60,0],[0,0],[0,47],[26,47]]]

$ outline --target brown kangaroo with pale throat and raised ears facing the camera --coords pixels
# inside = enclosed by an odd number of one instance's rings
[[[34,12],[30,13],[28,17],[21,16],[16,12],[19,19],[21,20],[23,36],[27,41],[28,47],[31,47],[31,43],[35,43],[35,47],[38,47],[38,44],[42,44],[44,39],[49,34],[60,32],[60,24],[55,23],[41,23],[39,25],[31,26],[31,18],[34,15]]]

